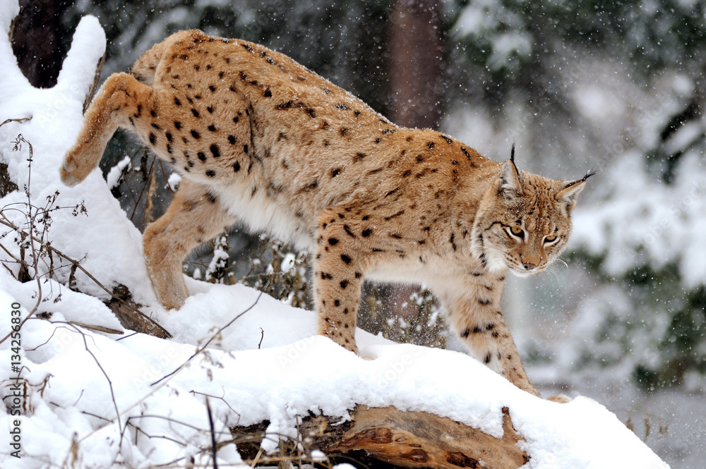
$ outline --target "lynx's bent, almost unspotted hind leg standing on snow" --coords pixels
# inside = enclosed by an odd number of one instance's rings
[[[179,309],[189,296],[181,266],[193,248],[235,223],[205,185],[184,179],[167,212],[145,229],[147,272],[160,303]]]

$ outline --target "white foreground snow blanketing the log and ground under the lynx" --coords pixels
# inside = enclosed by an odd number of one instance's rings
[[[0,8],[0,25],[7,28],[16,5],[4,2]],[[241,285],[187,279],[191,296],[184,307],[165,311],[150,288],[141,235],[100,171],[76,188],[59,182],[61,159],[80,128],[83,98],[104,46],[97,20],[84,18],[59,84],[35,90],[19,73],[6,35],[0,38],[0,121],[32,117],[0,127],[0,158],[13,181],[29,184],[33,205],[43,206],[56,191],[59,207],[85,205],[86,215],[71,209],[52,212],[47,228],[52,246],[82,260],[106,288],[127,286],[173,338],[124,330],[97,299],[107,293],[80,271],[78,291],[72,291],[66,286],[67,267],[56,269],[56,279],[44,276],[24,284],[16,280],[16,265],[9,264],[13,272],[0,269],[0,337],[11,330],[5,312],[13,302],[22,305],[23,318],[37,305],[35,317],[21,329],[22,458],[10,455],[10,435],[3,432],[3,468],[184,467],[190,458],[196,467],[210,466],[210,451],[204,451],[212,433],[207,396],[217,441],[232,439],[228,426],[269,420],[265,450],[275,449],[277,435],[296,434],[298,415],[345,420],[356,403],[436,413],[496,437],[503,434],[502,408],[507,407],[525,438],[526,468],[668,467],[599,403],[583,397],[566,404],[543,401],[463,353],[391,343],[358,330],[361,358],[314,335],[314,312]],[[29,145],[11,150],[19,133],[33,149],[31,183]],[[25,202],[20,190],[1,204],[23,207]],[[20,212],[4,214],[25,226]],[[13,236],[4,236],[2,243],[17,255]],[[47,273],[42,262],[37,269]],[[11,355],[10,341],[0,343],[0,363],[10,363]],[[16,375],[8,365],[0,367],[0,397],[6,403]],[[10,428],[15,419],[0,415],[0,427]],[[222,446],[218,458],[221,465],[240,463],[233,444]]]

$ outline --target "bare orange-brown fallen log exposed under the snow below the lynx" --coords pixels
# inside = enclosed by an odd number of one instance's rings
[[[496,438],[450,418],[426,412],[403,412],[394,407],[357,406],[349,422],[307,416],[299,425],[301,441],[323,451],[332,461],[358,461],[363,465],[386,463],[402,468],[516,469],[529,461],[517,445],[524,441],[515,432],[508,408],[503,408],[503,437]],[[272,463],[263,458],[260,444],[268,422],[234,427],[243,461]],[[282,445],[280,445],[282,448]],[[282,458],[280,454],[278,460]]]

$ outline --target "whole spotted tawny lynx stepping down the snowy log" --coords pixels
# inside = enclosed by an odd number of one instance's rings
[[[179,309],[184,257],[237,220],[309,250],[320,334],[350,351],[364,279],[424,283],[470,353],[530,384],[500,310],[505,276],[542,272],[566,246],[591,173],[553,181],[448,135],[395,126],[257,44],[174,34],[102,85],[61,179],[97,166],[116,128],[181,174],[145,230],[157,298]]]

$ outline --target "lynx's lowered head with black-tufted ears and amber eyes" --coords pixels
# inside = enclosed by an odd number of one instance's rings
[[[517,171],[515,147],[481,200],[472,251],[491,271],[542,272],[566,247],[570,214],[590,171],[578,181],[554,181]]]

